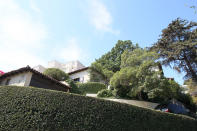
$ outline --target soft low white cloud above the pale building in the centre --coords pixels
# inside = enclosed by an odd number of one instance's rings
[[[81,49],[76,38],[69,39],[66,46],[60,49],[59,57],[64,61],[82,60],[87,58],[87,53]]]

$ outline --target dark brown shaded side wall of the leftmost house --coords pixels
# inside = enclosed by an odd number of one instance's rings
[[[52,81],[44,79],[40,75],[37,75],[37,74],[32,75],[29,85],[34,86],[34,87],[38,87],[38,88],[65,91],[65,92],[68,90],[64,86],[57,85],[57,84],[53,83]]]

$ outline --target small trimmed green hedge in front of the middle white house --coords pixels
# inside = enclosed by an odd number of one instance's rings
[[[106,89],[106,85],[99,82],[78,83],[79,90],[84,93],[97,94],[98,91]]]

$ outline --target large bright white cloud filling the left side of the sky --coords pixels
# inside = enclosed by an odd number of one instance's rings
[[[0,70],[42,64],[36,54],[47,36],[44,25],[14,0],[0,0]]]

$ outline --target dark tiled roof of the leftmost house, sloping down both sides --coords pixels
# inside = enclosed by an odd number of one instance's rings
[[[29,66],[20,68],[20,69],[18,69],[18,70],[13,70],[13,71],[7,72],[7,73],[5,73],[5,74],[3,74],[3,75],[0,76],[0,80],[4,79],[4,78],[6,78],[6,77],[12,76],[12,75],[16,75],[16,74],[19,74],[19,73],[23,73],[23,72],[32,72],[32,73],[34,73],[34,74],[37,74],[37,75],[41,76],[41,77],[44,78],[44,79],[50,80],[51,82],[53,82],[53,83],[55,83],[55,84],[57,84],[57,85],[63,86],[63,87],[65,87],[65,88],[71,88],[71,87],[69,87],[69,86],[63,84],[62,82],[60,82],[60,81],[54,79],[54,78],[51,78],[51,77],[49,77],[49,76],[47,76],[47,75],[44,75],[43,73],[40,73],[40,72],[38,72],[38,71],[32,69],[32,68],[29,67]]]

